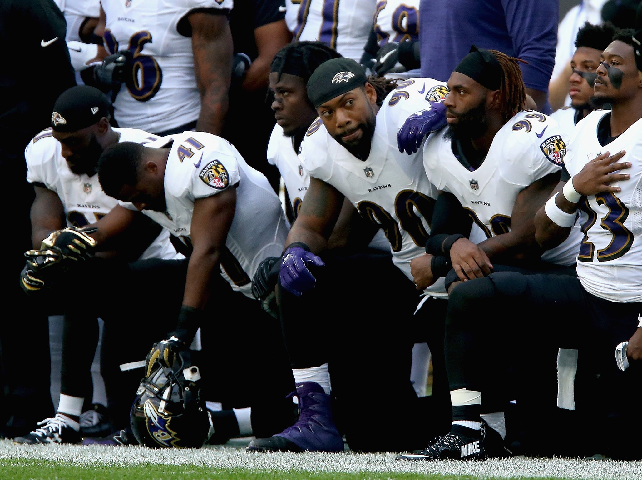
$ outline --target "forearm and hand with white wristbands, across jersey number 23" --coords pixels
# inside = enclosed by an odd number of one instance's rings
[[[630,162],[618,163],[624,150],[609,156],[609,152],[589,161],[580,173],[566,182],[559,182],[550,199],[537,211],[535,217],[535,239],[545,249],[562,243],[575,223],[577,205],[583,195],[595,195],[601,191],[618,192],[619,187],[611,183],[629,179],[628,173],[614,173],[630,168]]]

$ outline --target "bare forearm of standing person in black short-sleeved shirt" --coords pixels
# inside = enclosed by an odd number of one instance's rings
[[[290,43],[291,39],[292,34],[285,20],[271,22],[254,29],[254,41],[259,55],[245,75],[244,90],[255,91],[268,86],[272,58],[281,48]]]

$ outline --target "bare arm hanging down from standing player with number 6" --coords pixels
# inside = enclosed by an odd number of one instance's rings
[[[201,96],[196,130],[220,135],[227,114],[232,75],[232,33],[226,15],[195,12],[192,29],[194,72]]]

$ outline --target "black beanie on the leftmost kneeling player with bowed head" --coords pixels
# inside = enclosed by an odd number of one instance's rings
[[[76,132],[109,116],[109,100],[96,87],[77,85],[65,90],[53,105],[51,128]]]

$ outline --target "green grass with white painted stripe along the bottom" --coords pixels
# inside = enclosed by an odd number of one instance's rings
[[[399,462],[395,454],[257,454],[243,444],[187,450],[0,441],[0,480],[642,479],[642,462],[492,459]]]

